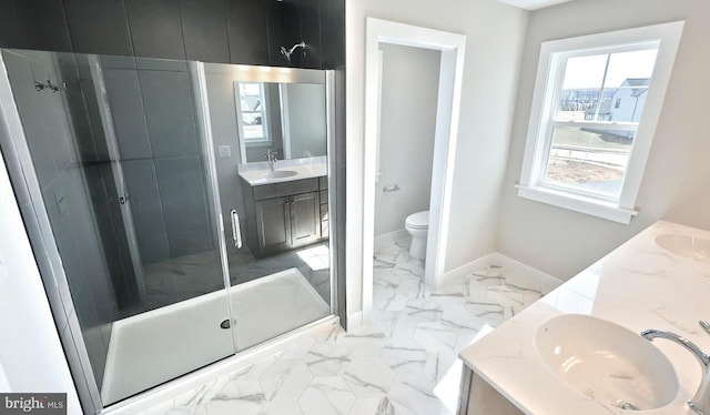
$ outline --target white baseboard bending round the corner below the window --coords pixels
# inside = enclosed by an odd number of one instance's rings
[[[519,272],[520,274],[528,275],[534,277],[537,282],[540,283],[540,287],[542,289],[542,294],[548,294],[550,291],[555,290],[559,285],[564,283],[562,280],[557,279],[552,275],[546,274],[540,270],[534,269],[530,265],[524,264],[520,261],[514,260],[510,256],[504,255],[499,252],[493,252],[488,255],[481,256],[478,260],[471,261],[465,265],[462,265],[455,270],[452,270],[444,274],[442,281],[439,281],[439,286],[444,286],[452,281],[469,275],[471,272],[490,266],[498,265],[504,269],[513,272]]]

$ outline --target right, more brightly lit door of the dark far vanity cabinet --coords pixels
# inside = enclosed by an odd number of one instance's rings
[[[303,246],[321,237],[318,192],[291,196],[291,245]]]

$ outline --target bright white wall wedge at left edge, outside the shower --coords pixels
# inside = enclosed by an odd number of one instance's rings
[[[44,287],[0,156],[0,392],[67,393],[81,414]]]

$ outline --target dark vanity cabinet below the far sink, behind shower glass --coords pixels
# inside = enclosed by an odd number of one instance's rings
[[[310,245],[327,237],[327,180],[321,178],[251,186],[245,194],[246,243],[255,256],[267,256]],[[325,179],[325,178],[322,178]],[[325,182],[325,192],[321,189]]]

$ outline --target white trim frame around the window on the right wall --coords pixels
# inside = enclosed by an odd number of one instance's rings
[[[527,143],[523,159],[523,171],[520,173],[520,182],[517,185],[519,196],[619,223],[628,224],[631,221],[631,217],[638,213],[636,199],[641,186],[643,170],[646,169],[646,162],[656,134],[656,126],[663,105],[666,89],[670,80],[683,26],[684,21],[677,21],[542,42],[535,81],[532,107],[530,109]],[[558,88],[554,82],[548,82],[548,80],[556,78],[556,71],[559,69],[555,64],[556,62],[554,62],[552,54],[574,50],[589,50],[659,40],[660,45],[658,48],[652,81],[648,90],[643,114],[633,140],[633,148],[629,155],[627,173],[618,204],[539,185],[538,170],[544,161],[547,160],[545,158],[547,154],[546,131],[551,120],[551,105],[549,103],[551,102],[550,98],[554,97]]]

